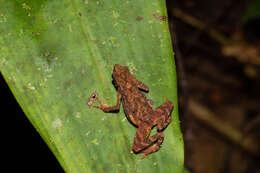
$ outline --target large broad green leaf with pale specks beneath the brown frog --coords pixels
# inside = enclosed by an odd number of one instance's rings
[[[0,68],[66,172],[182,172],[183,140],[164,0],[0,0]],[[119,114],[89,109],[97,90],[116,103],[114,64],[135,69],[159,106],[173,101],[160,151],[139,160]],[[44,164],[44,163],[43,163]]]

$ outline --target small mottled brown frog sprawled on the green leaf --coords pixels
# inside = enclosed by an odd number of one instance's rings
[[[95,108],[104,112],[115,112],[119,111],[120,103],[123,102],[127,119],[137,127],[132,150],[135,154],[143,153],[143,159],[160,149],[164,139],[163,130],[171,122],[173,104],[166,99],[166,102],[153,109],[149,99],[141,92],[149,92],[149,88],[137,80],[135,72],[131,74],[127,66],[115,64],[112,77],[117,89],[116,105],[105,106],[97,93],[92,94],[89,103],[92,105],[93,99],[97,99],[100,105],[94,106]],[[153,127],[157,128],[157,133],[150,136]]]

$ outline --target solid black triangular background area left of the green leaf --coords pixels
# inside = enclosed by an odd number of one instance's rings
[[[1,133],[4,137],[1,138],[1,143],[4,145],[1,170],[9,173],[18,171],[64,173],[55,156],[16,102],[2,75],[0,87]]]

